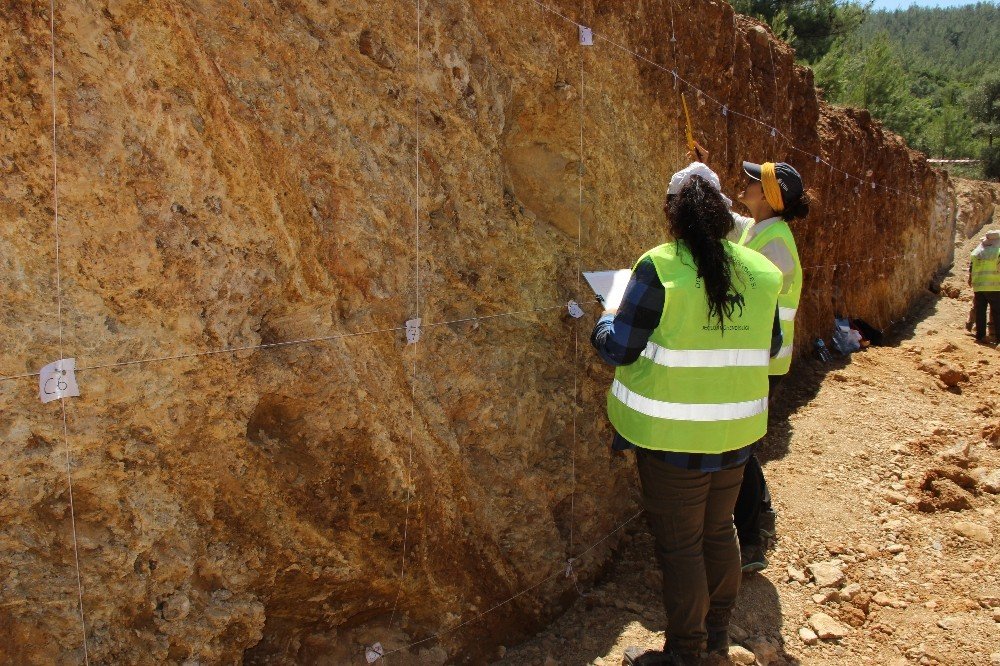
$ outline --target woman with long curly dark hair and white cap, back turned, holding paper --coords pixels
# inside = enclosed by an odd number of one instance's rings
[[[608,392],[613,448],[635,449],[667,640],[629,648],[628,665],[698,664],[724,653],[740,586],[733,506],[767,431],[768,362],[781,347],[781,273],[726,240],[719,179],[695,163],[674,174],[664,212],[674,242],[635,264],[620,310],[591,335],[617,366]]]

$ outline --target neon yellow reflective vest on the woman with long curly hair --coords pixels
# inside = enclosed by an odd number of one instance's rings
[[[705,288],[683,242],[653,248],[663,314],[635,363],[615,370],[608,417],[636,446],[722,453],[767,432],[768,365],[781,271],[725,241],[733,257],[733,314],[709,320]]]

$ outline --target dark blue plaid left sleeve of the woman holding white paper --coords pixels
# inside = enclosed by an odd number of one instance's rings
[[[649,257],[635,267],[617,315],[598,320],[590,343],[605,362],[635,363],[663,315],[664,289]]]

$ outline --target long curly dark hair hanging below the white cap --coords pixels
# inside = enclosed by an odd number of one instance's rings
[[[733,230],[733,216],[718,190],[700,176],[692,176],[681,191],[670,197],[667,218],[670,232],[684,241],[694,259],[698,277],[705,285],[708,319],[724,319],[733,314],[729,291],[733,284],[733,258],[724,239]]]

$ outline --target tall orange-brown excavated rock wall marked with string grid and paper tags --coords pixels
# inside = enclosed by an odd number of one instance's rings
[[[949,261],[946,177],[728,4],[551,5],[603,38],[527,0],[424,2],[419,54],[411,3],[57,3],[58,260],[49,5],[0,9],[0,376],[82,368],[65,437],[0,382],[0,660],[481,662],[558,613],[636,510],[564,306],[665,240],[649,62],[734,111],[688,93],[730,193],[769,158],[816,191],[800,350]]]

